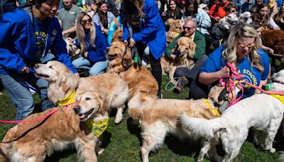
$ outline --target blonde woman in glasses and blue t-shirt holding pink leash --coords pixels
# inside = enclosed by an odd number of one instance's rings
[[[267,53],[261,50],[261,45],[261,38],[253,26],[248,23],[236,24],[231,30],[226,45],[214,50],[200,69],[200,75],[195,80],[197,86],[192,87],[194,94],[190,97],[207,98],[208,87],[216,85],[221,78],[229,77],[230,70],[226,67],[226,63],[235,64],[237,72],[244,75],[241,78],[241,84],[244,86],[243,98],[261,92],[246,84],[250,82],[262,87],[267,83],[270,63]]]

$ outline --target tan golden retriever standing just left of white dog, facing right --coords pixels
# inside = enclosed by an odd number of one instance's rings
[[[212,87],[208,99],[157,99],[143,105],[143,108],[129,108],[129,116],[141,121],[143,161],[148,161],[148,153],[159,148],[168,133],[175,134],[181,139],[190,136],[180,124],[179,116],[182,112],[190,117],[204,119],[218,117],[219,113],[217,108],[214,107],[214,102],[224,99],[223,90],[224,87]],[[220,103],[222,102],[220,101]]]

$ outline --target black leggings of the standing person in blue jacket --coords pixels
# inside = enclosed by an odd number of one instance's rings
[[[145,48],[147,47],[146,44],[143,44],[141,42],[138,42],[135,44],[138,53],[139,53],[139,58],[143,60],[143,53]],[[150,57],[149,57],[150,65],[152,68],[152,75],[155,77],[155,80],[158,82],[158,93],[160,93],[160,86],[162,85],[162,67],[160,66],[160,58],[156,60],[153,56],[153,54],[150,51]]]

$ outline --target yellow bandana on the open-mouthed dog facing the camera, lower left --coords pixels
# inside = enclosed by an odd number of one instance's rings
[[[109,124],[109,118],[104,119],[103,121],[94,121],[93,119],[87,119],[84,123],[92,130],[95,136],[99,137],[104,133],[104,130],[107,129]]]

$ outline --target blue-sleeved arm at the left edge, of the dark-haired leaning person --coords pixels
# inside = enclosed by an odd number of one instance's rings
[[[21,15],[15,19],[7,16],[8,14],[18,16],[6,13],[2,17],[3,21],[0,21],[0,66],[10,72],[21,72],[27,66],[24,61],[31,63],[37,50],[33,28]],[[15,46],[17,51],[9,50],[10,45]]]

